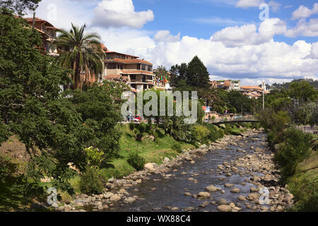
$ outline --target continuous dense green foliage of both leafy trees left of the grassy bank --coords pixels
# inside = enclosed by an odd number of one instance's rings
[[[36,48],[42,45],[40,33],[6,10],[0,31],[0,141],[18,136],[30,157],[28,178],[52,177],[52,186],[73,193],[69,179],[76,172],[69,162],[85,171],[84,148],[99,148],[105,156],[118,149],[120,89],[106,83],[61,93],[71,71]]]

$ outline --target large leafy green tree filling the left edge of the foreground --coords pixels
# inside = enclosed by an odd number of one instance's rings
[[[53,177],[53,186],[73,192],[67,165],[85,166],[83,148],[93,129],[83,124],[59,85],[69,83],[71,71],[42,55],[40,33],[6,10],[0,13],[1,141],[15,134],[30,156],[28,177],[35,182]],[[4,132],[3,132],[4,131]]]

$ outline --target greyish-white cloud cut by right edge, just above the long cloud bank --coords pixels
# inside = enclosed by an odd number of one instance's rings
[[[287,37],[317,37],[318,36],[318,18],[310,19],[307,23],[305,18],[301,18],[298,24],[293,29],[287,30],[285,36]]]

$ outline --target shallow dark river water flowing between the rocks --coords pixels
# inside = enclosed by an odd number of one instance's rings
[[[242,211],[252,211],[244,204],[248,201],[239,201],[237,199],[237,196],[247,196],[250,193],[249,188],[254,186],[249,184],[249,182],[245,182],[245,179],[250,178],[250,174],[240,175],[231,172],[232,176],[225,177],[224,173],[220,174],[220,171],[217,170],[217,166],[222,165],[224,161],[230,162],[237,157],[242,157],[242,155],[254,153],[254,150],[250,149],[251,146],[254,148],[266,148],[264,146],[265,136],[264,133],[257,133],[240,141],[235,141],[238,144],[237,146],[227,145],[228,150],[224,147],[220,150],[209,151],[203,157],[196,158],[193,165],[189,162],[183,162],[179,167],[172,167],[172,169],[177,169],[177,172],[169,172],[168,174],[173,175],[170,179],[164,179],[160,174],[152,174],[148,176],[150,179],[143,180],[141,184],[126,189],[130,194],[129,196],[139,197],[136,202],[123,203],[119,201],[114,203],[114,206],[110,209],[103,211],[172,211],[167,206],[170,206],[170,208],[177,207],[179,208],[178,211],[183,211],[189,207],[194,208],[192,211],[218,211],[218,204],[211,203],[211,201],[218,201],[220,198],[225,198],[228,203],[235,203],[236,206],[237,203],[240,203]],[[246,153],[237,152],[237,148],[242,148]],[[187,172],[187,174],[182,174],[182,172]],[[263,176],[262,174],[257,175]],[[187,180],[189,177],[196,179],[197,183]],[[220,177],[224,178],[224,180],[220,180]],[[234,184],[235,186],[227,188],[224,186],[225,183]],[[242,185],[242,183],[245,183],[245,185]],[[211,184],[223,189],[225,194],[221,194],[220,191],[210,192],[211,198],[203,200],[184,195],[186,191],[191,194],[198,194],[201,191],[205,191],[206,186]],[[233,188],[240,189],[240,193],[230,192]],[[200,207],[206,201],[208,201],[208,205]]]

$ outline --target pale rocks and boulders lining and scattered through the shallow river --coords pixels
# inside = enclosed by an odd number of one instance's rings
[[[247,177],[245,182],[241,182],[240,186],[250,186],[249,194],[242,195],[242,191],[237,184],[224,183],[223,186],[210,184],[206,186],[205,191],[200,191],[197,194],[191,194],[188,189],[184,189],[184,197],[189,196],[196,200],[203,201],[198,207],[189,206],[188,208],[180,209],[179,206],[165,206],[167,210],[185,210],[191,211],[196,208],[204,208],[208,205],[216,206],[218,211],[242,211],[243,209],[250,211],[283,211],[293,205],[293,195],[283,187],[278,185],[279,171],[275,169],[273,164],[273,153],[267,148],[259,148],[245,145],[249,141],[259,141],[259,138],[252,138],[255,134],[262,133],[262,130],[248,130],[242,136],[225,136],[216,143],[210,145],[201,145],[200,148],[194,150],[183,150],[182,154],[170,160],[165,157],[162,165],[155,163],[147,163],[144,170],[134,172],[123,179],[110,179],[105,184],[103,194],[88,196],[81,194],[71,201],[71,203],[62,205],[61,203],[54,204],[54,208],[59,211],[87,211],[87,210],[109,210],[117,203],[122,205],[140,201],[143,198],[131,195],[129,192],[138,191],[138,185],[151,179],[153,176],[158,176],[155,180],[168,180],[175,178],[175,172],[181,171],[182,165],[187,162],[190,165],[195,165],[196,161],[204,157],[206,153],[215,150],[230,150],[231,152],[239,153],[237,157],[222,162],[215,169],[210,169],[210,172],[201,172],[202,174],[216,174],[218,179],[223,182],[232,175],[240,175]],[[266,147],[265,137],[261,138],[261,144]],[[230,147],[237,148],[230,148]],[[240,148],[238,148],[240,147]],[[249,150],[247,150],[249,149]],[[230,156],[228,156],[230,157]],[[181,175],[187,176],[188,172],[181,172]],[[187,177],[187,182],[194,184],[198,183],[199,173],[190,174]],[[214,200],[213,196],[216,193],[225,194],[225,190],[230,189],[231,194],[237,194],[237,203],[227,201],[225,198]],[[127,191],[129,190],[129,191]],[[152,188],[151,191],[155,191]],[[263,203],[265,202],[265,204]],[[263,204],[263,205],[262,205]],[[156,208],[153,208],[155,210]]]

